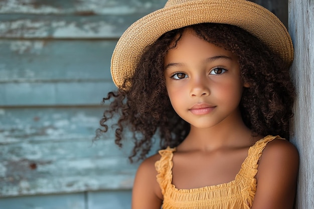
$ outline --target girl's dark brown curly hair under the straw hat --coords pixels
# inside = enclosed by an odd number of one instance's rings
[[[115,143],[122,146],[123,133],[133,133],[134,147],[129,156],[144,159],[151,149],[154,136],[161,148],[179,145],[190,131],[190,124],[174,111],[167,95],[164,58],[175,48],[186,29],[192,29],[201,39],[222,47],[239,59],[244,88],[240,110],[252,135],[280,135],[289,139],[289,119],[292,117],[294,87],[289,67],[255,36],[243,29],[202,23],[176,29],[162,35],[144,50],[135,73],[116,92],[109,92],[103,102],[110,102],[104,111],[96,138],[108,131],[108,120],[119,115],[115,123]],[[175,44],[174,44],[175,43]],[[130,88],[126,88],[129,86]]]

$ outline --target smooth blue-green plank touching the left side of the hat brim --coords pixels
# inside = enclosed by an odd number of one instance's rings
[[[111,81],[116,40],[0,40],[0,83]]]

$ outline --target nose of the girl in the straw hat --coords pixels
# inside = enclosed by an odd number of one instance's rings
[[[209,81],[205,77],[191,79],[191,97],[200,97],[210,95]]]

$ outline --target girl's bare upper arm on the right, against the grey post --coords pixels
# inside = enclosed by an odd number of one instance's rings
[[[296,191],[299,156],[288,141],[267,144],[258,163],[257,189],[252,209],[292,209]]]

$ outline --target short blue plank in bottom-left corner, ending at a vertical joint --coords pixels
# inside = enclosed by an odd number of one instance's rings
[[[85,205],[84,193],[0,198],[2,209],[86,209]]]

